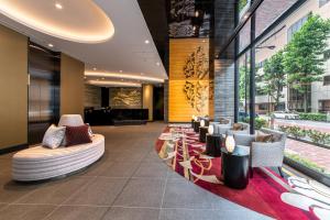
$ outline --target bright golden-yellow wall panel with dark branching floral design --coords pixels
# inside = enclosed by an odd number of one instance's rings
[[[169,41],[169,121],[210,116],[209,43],[201,38]]]

